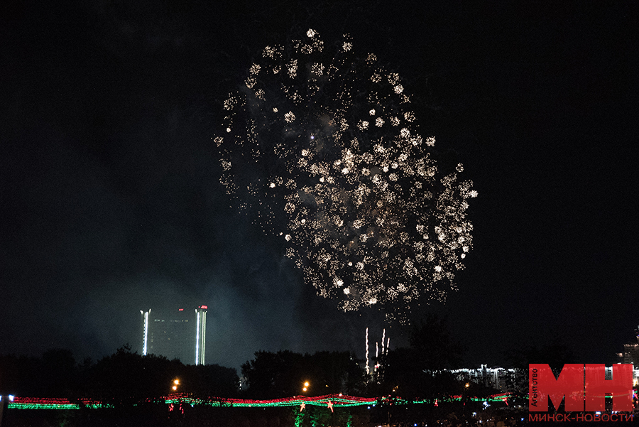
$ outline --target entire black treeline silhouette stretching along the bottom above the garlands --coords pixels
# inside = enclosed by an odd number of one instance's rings
[[[161,399],[175,392],[201,399],[278,399],[339,393],[446,399],[459,394],[466,382],[474,384],[471,391],[477,395],[505,391],[494,389],[488,381],[455,376],[452,369],[461,367],[463,352],[461,342],[449,332],[447,319],[437,316],[414,325],[407,346],[387,349],[378,357],[371,354],[368,361],[348,351],[301,354],[258,350],[252,360],[242,364],[241,379],[235,368],[143,356],[131,351],[130,345],[97,361],[76,361],[71,350],[58,348],[41,357],[0,355],[0,394],[107,402]],[[528,363],[546,362],[553,369],[561,369],[564,363],[578,362],[572,350],[551,341],[542,347],[510,350],[507,357],[508,367],[514,368],[515,374],[506,379],[505,387],[524,397]],[[305,383],[309,384],[306,390]]]

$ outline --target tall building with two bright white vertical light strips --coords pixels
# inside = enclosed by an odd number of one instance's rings
[[[204,364],[207,306],[193,310],[140,310],[142,355],[158,355],[184,364]]]

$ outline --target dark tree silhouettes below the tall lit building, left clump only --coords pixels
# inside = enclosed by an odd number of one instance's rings
[[[65,349],[48,350],[42,357],[0,356],[0,394],[16,396],[89,397],[104,401],[154,399],[176,391],[198,396],[235,396],[238,384],[236,369],[143,356],[131,352],[129,345],[97,362],[85,359],[76,363],[72,352]]]

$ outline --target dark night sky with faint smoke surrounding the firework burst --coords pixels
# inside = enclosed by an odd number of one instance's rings
[[[314,28],[399,72],[479,192],[459,291],[415,318],[448,315],[468,366],[552,339],[616,362],[639,324],[634,2],[223,3],[0,6],[0,353],[97,359],[136,347],[139,310],[205,304],[209,363],[364,356],[383,316],[315,295],[229,206],[211,141],[261,49]]]

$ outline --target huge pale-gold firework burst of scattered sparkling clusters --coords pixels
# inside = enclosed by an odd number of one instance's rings
[[[221,182],[287,244],[320,296],[406,318],[443,301],[472,247],[476,192],[442,175],[400,77],[344,36],[267,46],[224,102]]]

